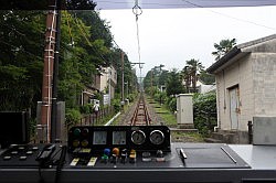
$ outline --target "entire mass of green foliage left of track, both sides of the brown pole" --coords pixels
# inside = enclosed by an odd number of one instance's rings
[[[35,118],[41,100],[46,12],[0,11],[0,110],[31,110]],[[121,50],[113,45],[109,25],[96,11],[62,11],[57,99],[66,104],[67,122],[87,114],[81,107],[81,94],[94,84],[103,67],[117,69],[120,93]],[[128,93],[137,77],[125,55],[125,82]],[[120,96],[120,95],[116,95]],[[100,97],[98,97],[100,98]]]

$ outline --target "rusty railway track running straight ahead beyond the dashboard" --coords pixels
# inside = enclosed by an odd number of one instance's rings
[[[151,119],[145,103],[144,95],[140,95],[140,98],[135,108],[134,115],[128,123],[130,126],[150,126]]]

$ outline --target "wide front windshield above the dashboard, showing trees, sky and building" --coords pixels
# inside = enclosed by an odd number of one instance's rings
[[[169,126],[173,141],[251,143],[254,117],[276,111],[263,82],[274,84],[276,7],[183,2],[99,1],[94,11],[62,9],[60,18],[1,10],[0,110],[26,112],[30,139],[50,141],[61,111],[66,130],[103,126],[142,93],[151,120]],[[181,114],[184,96],[190,121]],[[238,140],[212,136],[229,131]]]

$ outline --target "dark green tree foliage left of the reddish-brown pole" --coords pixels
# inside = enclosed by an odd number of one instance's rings
[[[42,83],[45,15],[0,11],[0,110],[35,109]]]

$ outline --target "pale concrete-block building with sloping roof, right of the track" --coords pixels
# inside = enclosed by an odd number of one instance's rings
[[[276,34],[233,47],[208,68],[215,75],[217,128],[247,142],[247,122],[276,116]]]

